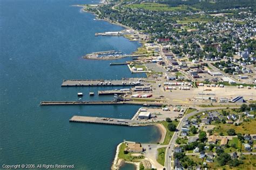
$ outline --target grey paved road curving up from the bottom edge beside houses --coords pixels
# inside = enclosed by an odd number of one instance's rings
[[[169,146],[166,148],[166,152],[165,152],[165,167],[166,167],[166,170],[174,169],[174,167],[173,167],[173,152],[172,151],[173,151],[175,142],[178,138],[181,127],[183,126],[185,120],[189,117],[192,117],[195,114],[200,113],[200,112],[207,112],[207,111],[211,111],[211,110],[217,110],[217,109],[220,109],[220,108],[223,108],[223,107],[203,108],[203,109],[200,109],[198,111],[188,113],[188,114],[184,115],[183,118],[180,119],[180,123],[177,126],[177,130],[176,130],[176,132],[174,132],[174,134],[172,136],[172,139],[170,140]]]

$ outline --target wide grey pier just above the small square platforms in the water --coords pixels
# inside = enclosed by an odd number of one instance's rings
[[[127,80],[63,80],[62,87],[72,86],[143,86],[139,79]]]

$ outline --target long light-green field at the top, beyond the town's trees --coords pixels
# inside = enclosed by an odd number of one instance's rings
[[[125,5],[128,8],[143,8],[150,11],[191,11],[196,10],[196,8],[191,8],[186,5],[180,5],[171,7],[166,4],[159,4],[159,3],[140,3],[140,4],[129,4]]]

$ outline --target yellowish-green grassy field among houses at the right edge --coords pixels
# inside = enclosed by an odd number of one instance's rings
[[[233,128],[236,133],[241,134],[256,134],[256,120],[252,119],[250,121],[244,121],[240,126],[235,126],[234,124],[217,124],[214,128],[214,133],[219,134],[222,132],[224,135],[227,135],[227,130]]]

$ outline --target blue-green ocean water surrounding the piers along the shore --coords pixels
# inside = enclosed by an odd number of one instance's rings
[[[94,51],[131,53],[140,46],[123,37],[95,37],[120,26],[94,21],[82,0],[0,0],[0,166],[73,164],[110,169],[119,142],[154,142],[156,127],[69,123],[72,115],[131,118],[139,106],[40,106],[45,100],[110,100],[89,92],[110,87],[60,87],[63,79],[144,77],[110,60],[85,60]],[[115,62],[124,62],[129,58]]]

